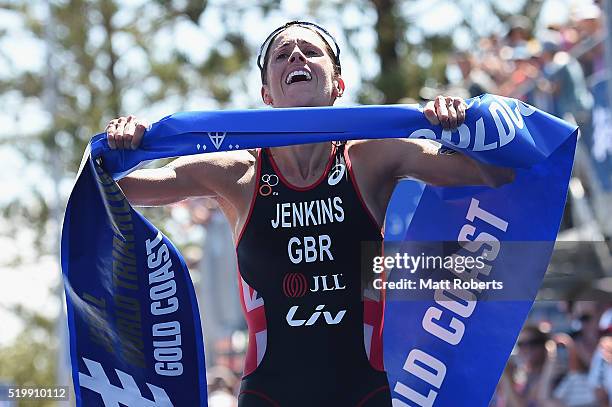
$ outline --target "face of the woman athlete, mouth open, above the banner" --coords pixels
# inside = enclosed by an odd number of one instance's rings
[[[270,44],[266,75],[261,96],[273,107],[331,106],[344,92],[325,42],[304,27],[289,27]]]

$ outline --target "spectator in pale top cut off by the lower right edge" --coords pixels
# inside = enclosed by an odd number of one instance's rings
[[[612,406],[612,308],[599,320],[601,339],[593,356],[589,381],[595,386],[599,407]]]

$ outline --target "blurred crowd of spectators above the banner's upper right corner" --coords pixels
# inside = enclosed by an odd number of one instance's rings
[[[605,72],[604,27],[599,5],[580,2],[566,25],[534,30],[525,16],[508,21],[505,36],[482,38],[475,51],[449,60],[461,73],[455,88],[472,97],[493,93],[521,99],[557,117],[587,124],[590,81]]]

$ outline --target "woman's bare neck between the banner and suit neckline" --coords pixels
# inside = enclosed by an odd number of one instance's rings
[[[331,143],[271,148],[272,157],[289,181],[297,184],[317,180],[328,163]]]

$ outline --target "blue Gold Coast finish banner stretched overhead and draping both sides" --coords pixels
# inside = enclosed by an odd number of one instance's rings
[[[509,284],[521,282],[526,298],[486,301],[488,294],[478,290],[433,290],[431,298],[417,300],[406,291],[387,294],[384,354],[394,406],[486,406],[550,258],[576,129],[514,99],[483,95],[469,104],[466,122],[452,133],[431,126],[414,106],[364,106],[178,113],[153,124],[135,151],[110,150],[104,134],[95,136],[62,233],[77,405],[206,405],[201,326],[187,267],[113,180],[163,157],[413,137],[516,169],[516,180],[497,189],[426,186],[416,209],[406,205],[413,216],[399,216],[411,219],[402,240],[408,246],[464,241],[462,250],[498,254],[490,255],[480,280],[503,274]],[[391,206],[402,210],[401,202]],[[501,242],[498,250],[492,241]],[[506,249],[506,242],[525,241],[540,242],[539,249]],[[508,263],[497,260],[504,258],[515,259],[513,267],[498,265]],[[390,281],[401,277],[394,271]]]

